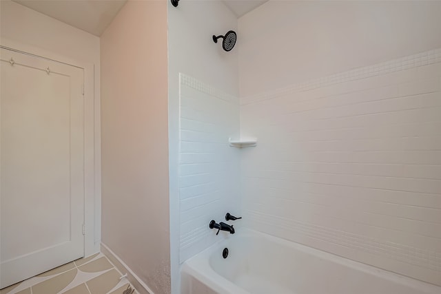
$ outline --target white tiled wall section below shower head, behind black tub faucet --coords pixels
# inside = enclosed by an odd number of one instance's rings
[[[210,220],[240,213],[239,151],[228,138],[239,134],[238,98],[180,74],[180,262],[228,238]]]

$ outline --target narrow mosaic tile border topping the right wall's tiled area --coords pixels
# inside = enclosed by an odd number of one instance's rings
[[[319,87],[361,80],[363,78],[380,76],[382,74],[389,74],[391,72],[400,72],[401,70],[409,70],[414,67],[420,67],[433,63],[441,63],[441,48],[404,56],[399,59],[392,59],[391,61],[376,63],[374,65],[359,67],[346,72],[339,72],[338,74],[331,74],[329,76],[315,78],[310,81],[289,85],[287,87],[271,90],[262,94],[240,97],[240,105],[269,100],[275,96],[280,96],[281,94],[289,92],[314,90]]]

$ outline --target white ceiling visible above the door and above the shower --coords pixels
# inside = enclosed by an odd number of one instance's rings
[[[23,6],[68,23],[75,28],[101,36],[127,0],[12,0]],[[180,5],[185,5],[181,1]],[[268,0],[222,0],[236,17]]]

